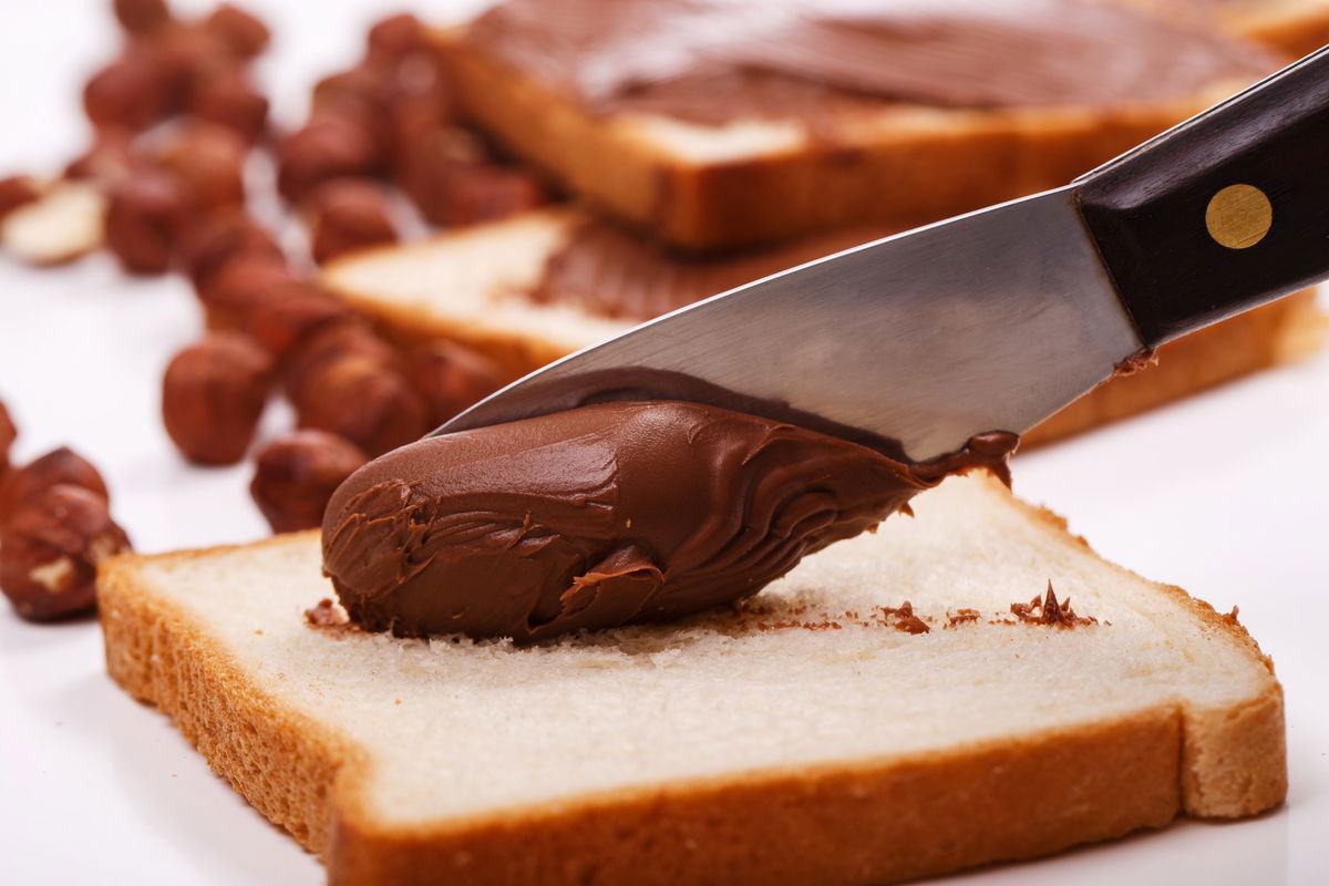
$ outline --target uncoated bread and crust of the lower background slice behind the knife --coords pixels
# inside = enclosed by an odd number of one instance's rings
[[[525,296],[546,259],[586,218],[573,209],[526,213],[350,255],[328,264],[323,279],[392,337],[405,344],[461,341],[517,379],[631,325]],[[1156,365],[1112,379],[1026,434],[1025,445],[1066,437],[1309,353],[1324,332],[1310,292],[1232,317],[1164,345]]]

